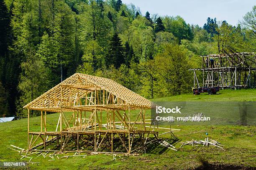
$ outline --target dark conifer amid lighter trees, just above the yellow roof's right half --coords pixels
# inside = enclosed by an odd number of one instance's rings
[[[115,33],[109,44],[108,55],[105,57],[105,64],[108,67],[114,65],[115,68],[119,68],[121,64],[125,63],[123,51],[122,41],[120,37],[118,37],[118,34]]]

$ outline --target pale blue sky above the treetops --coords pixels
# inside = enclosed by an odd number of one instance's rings
[[[122,2],[138,6],[143,15],[146,11],[151,15],[179,15],[186,23],[198,24],[201,27],[208,17],[237,25],[238,20],[256,5],[256,0],[122,0]]]

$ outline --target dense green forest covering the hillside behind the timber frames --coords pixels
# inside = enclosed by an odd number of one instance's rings
[[[121,0],[0,0],[0,117],[26,116],[75,72],[156,98],[190,92],[200,55],[256,52],[256,6],[237,25],[205,18],[190,25]]]

